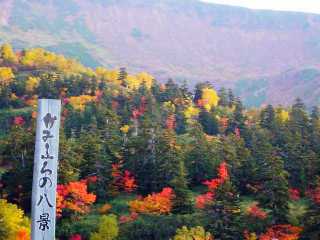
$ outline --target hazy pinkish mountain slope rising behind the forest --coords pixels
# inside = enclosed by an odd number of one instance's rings
[[[286,72],[320,69],[320,15],[195,0],[2,0],[0,40],[17,48],[45,47],[90,66],[235,87],[250,105],[290,103],[291,94],[305,92],[292,90]],[[255,100],[243,90],[243,79],[265,96]],[[285,85],[280,93],[278,80]]]

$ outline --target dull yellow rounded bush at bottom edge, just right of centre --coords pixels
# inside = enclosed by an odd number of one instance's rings
[[[177,229],[177,233],[173,240],[213,240],[212,235],[206,232],[203,227],[192,227],[188,229],[186,226]]]

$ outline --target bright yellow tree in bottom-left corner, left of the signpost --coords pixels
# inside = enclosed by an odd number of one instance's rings
[[[30,239],[30,221],[15,204],[0,199],[0,239]]]

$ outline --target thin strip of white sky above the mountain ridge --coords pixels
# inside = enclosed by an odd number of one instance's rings
[[[253,9],[298,11],[320,14],[320,0],[202,0],[203,2],[242,6]]]

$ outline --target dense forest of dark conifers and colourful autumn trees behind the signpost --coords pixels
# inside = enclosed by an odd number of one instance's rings
[[[0,50],[0,239],[29,239],[38,98],[63,104],[58,239],[320,239],[320,112]]]

